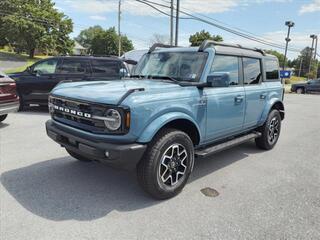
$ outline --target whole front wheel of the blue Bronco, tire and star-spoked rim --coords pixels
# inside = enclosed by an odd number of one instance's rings
[[[179,130],[164,129],[148,146],[137,166],[142,188],[156,199],[177,195],[188,181],[194,164],[190,137]]]

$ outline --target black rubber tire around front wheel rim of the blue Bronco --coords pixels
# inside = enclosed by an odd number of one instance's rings
[[[187,159],[183,164],[183,168],[185,169],[184,174],[180,179],[178,179],[175,185],[168,186],[163,182],[160,174],[161,168],[163,168],[162,161],[165,158],[165,154],[172,146],[179,146],[179,148],[181,147],[180,149],[183,149],[183,152],[186,153]],[[172,154],[174,151],[175,150],[173,147]],[[178,149],[177,151],[179,154],[180,150]],[[180,155],[178,158],[180,159]],[[179,167],[182,166],[181,162]],[[184,167],[184,165],[186,167]],[[138,182],[144,191],[146,191],[155,199],[172,198],[182,191],[183,187],[188,181],[190,173],[192,172],[193,165],[194,146],[190,137],[186,133],[176,129],[163,129],[149,143],[143,158],[137,165]],[[168,166],[169,164],[167,167]],[[178,175],[171,176],[171,184],[172,179],[174,179],[173,176],[176,176],[175,179],[177,180]]]

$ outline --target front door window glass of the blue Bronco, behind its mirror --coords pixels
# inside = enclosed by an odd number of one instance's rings
[[[234,56],[216,55],[211,68],[211,73],[229,73],[229,85],[239,84],[239,58]]]

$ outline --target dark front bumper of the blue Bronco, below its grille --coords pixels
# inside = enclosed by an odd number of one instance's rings
[[[54,141],[87,158],[106,163],[116,168],[133,169],[142,158],[147,146],[144,144],[114,144],[94,141],[92,135],[77,136],[77,131],[66,132],[53,120],[46,122],[47,134]]]

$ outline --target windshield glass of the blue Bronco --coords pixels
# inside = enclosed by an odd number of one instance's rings
[[[179,81],[199,81],[207,60],[204,52],[160,52],[145,54],[134,75],[169,77]]]

